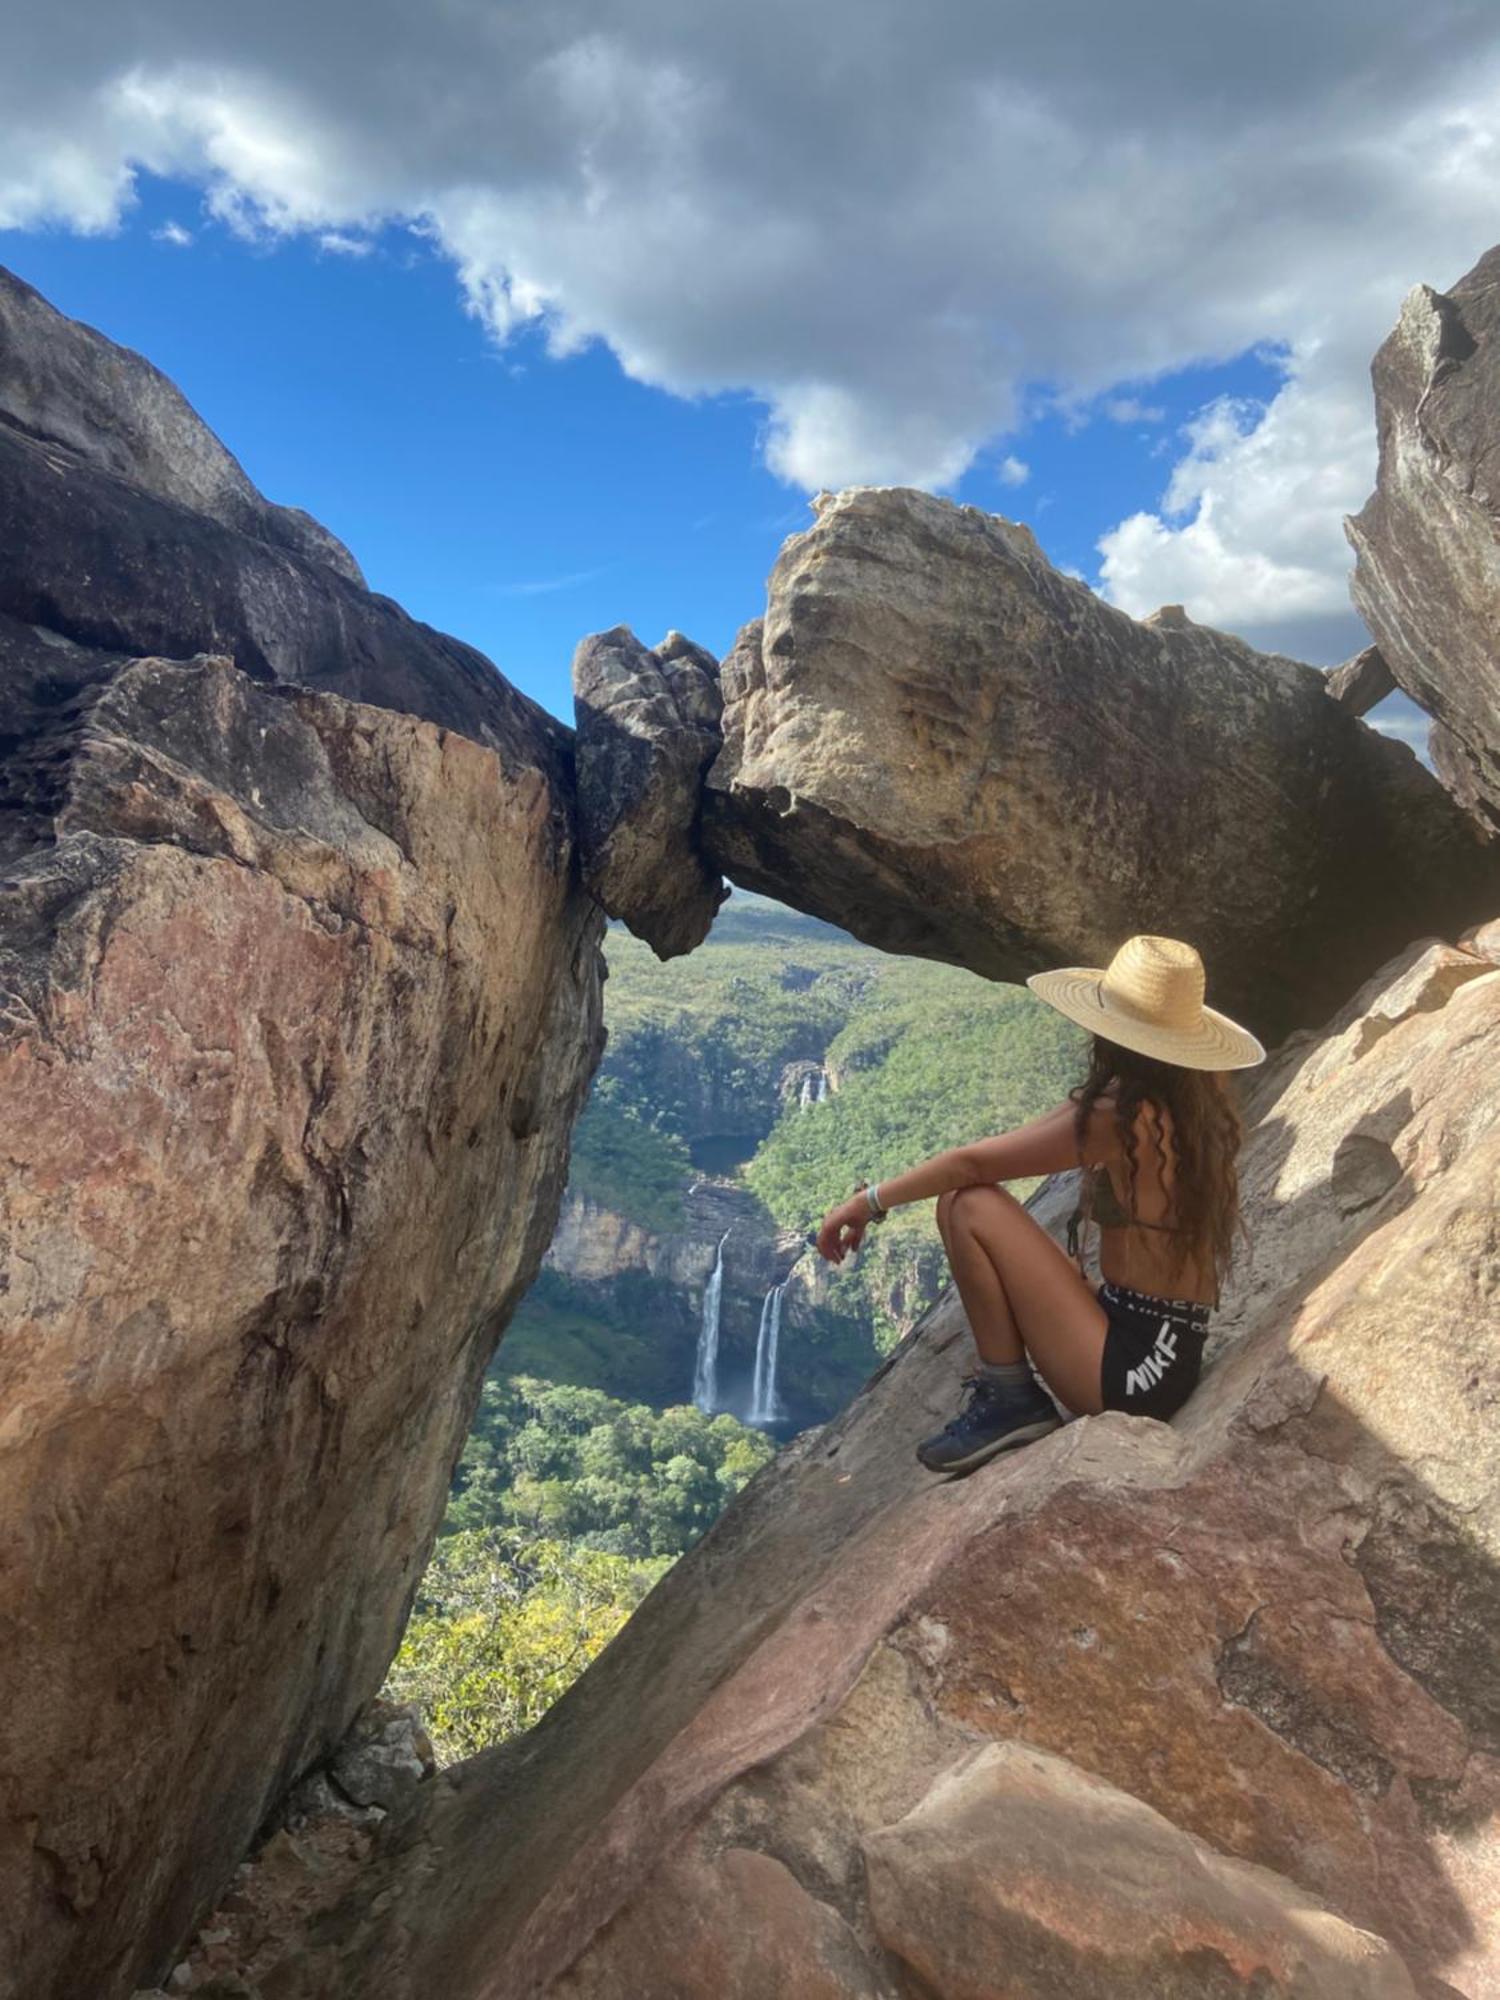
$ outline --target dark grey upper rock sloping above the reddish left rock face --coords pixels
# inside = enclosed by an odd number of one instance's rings
[[[222,654],[256,680],[424,716],[486,744],[508,778],[540,766],[564,802],[560,722],[472,646],[360,588],[334,538],[260,500],[140,356],[6,274],[0,308],[0,336],[14,332],[0,338],[0,616],[116,656]]]

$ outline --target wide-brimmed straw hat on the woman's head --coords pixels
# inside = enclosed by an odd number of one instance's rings
[[[1106,970],[1032,972],[1034,994],[1080,1028],[1184,1070],[1248,1070],[1266,1050],[1204,1006],[1204,962],[1178,938],[1126,938]]]

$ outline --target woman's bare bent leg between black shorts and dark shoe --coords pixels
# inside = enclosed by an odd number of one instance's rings
[[[1030,1354],[1078,1416],[1104,1408],[1104,1308],[1046,1230],[1004,1188],[960,1188],[938,1202],[948,1264],[986,1362]]]

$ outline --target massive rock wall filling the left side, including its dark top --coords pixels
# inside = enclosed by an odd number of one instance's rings
[[[600,916],[566,734],[0,300],[0,1992],[110,2000],[382,1680],[552,1230]],[[152,656],[204,640],[248,672]]]

